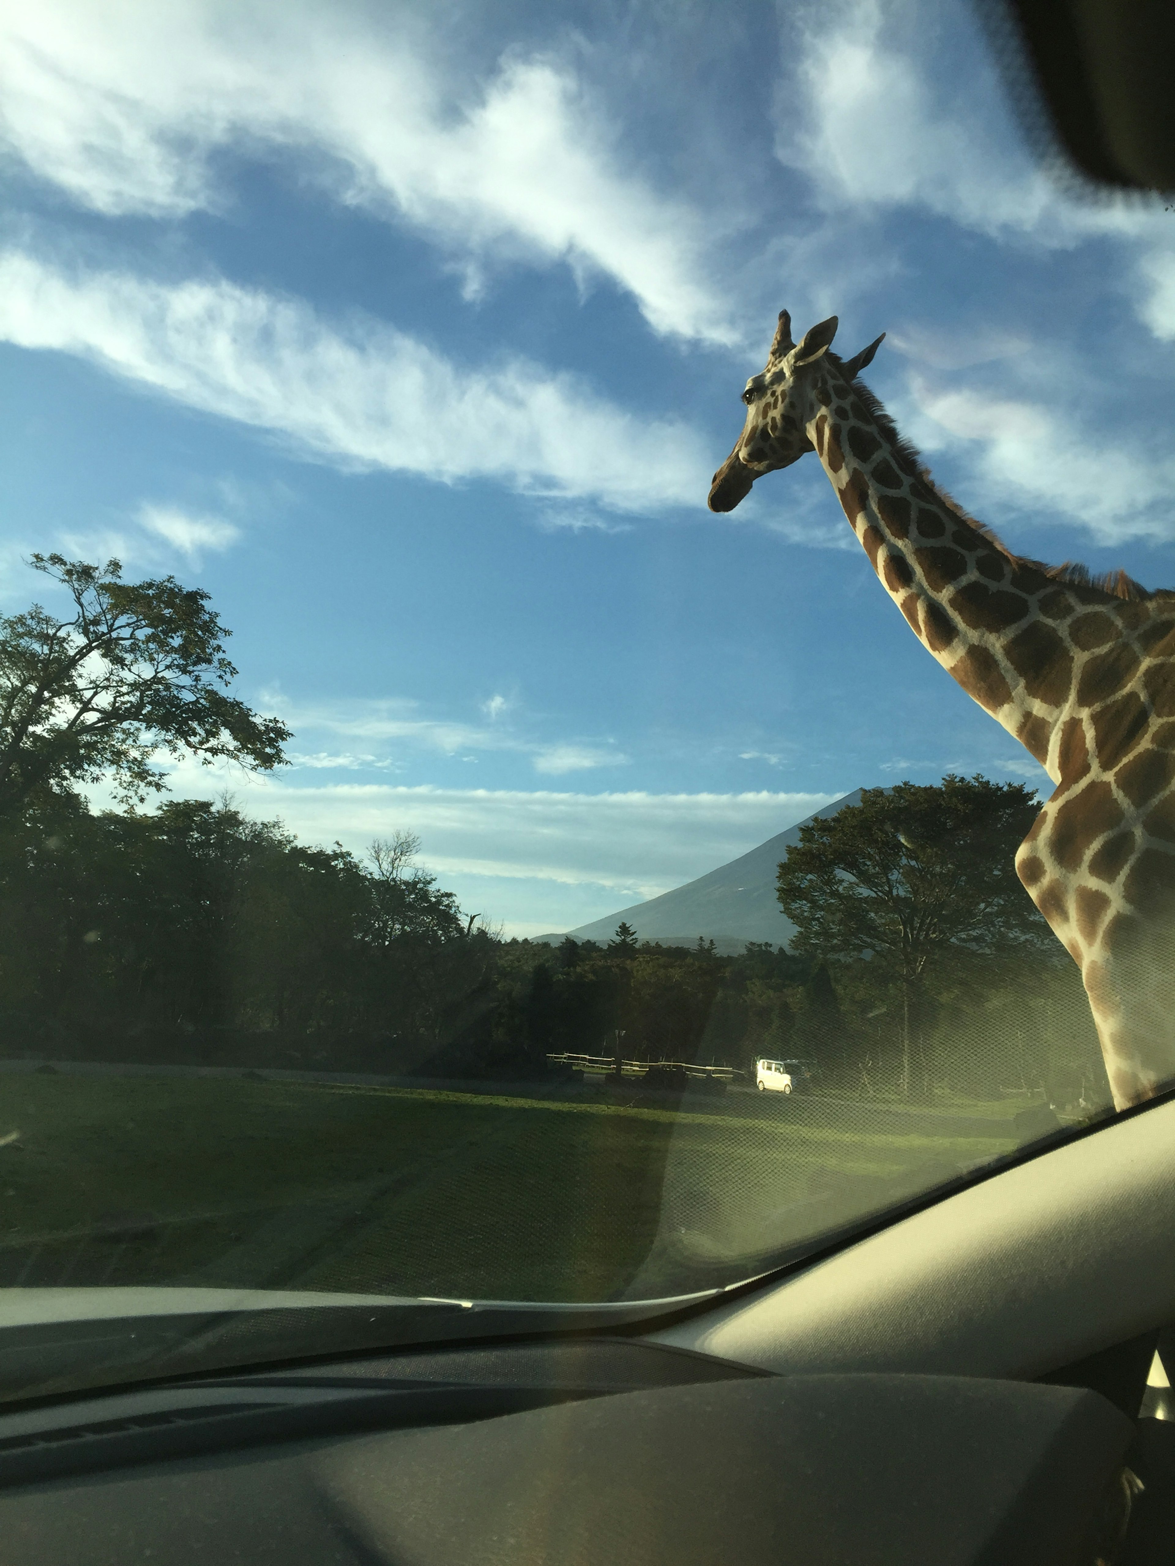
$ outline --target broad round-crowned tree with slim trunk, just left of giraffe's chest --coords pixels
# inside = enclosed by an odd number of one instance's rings
[[[871,957],[896,974],[907,1095],[929,1093],[927,966],[948,949],[1000,957],[1051,946],[1014,863],[1037,811],[1025,785],[984,777],[865,789],[860,805],[802,827],[779,868],[796,952]]]

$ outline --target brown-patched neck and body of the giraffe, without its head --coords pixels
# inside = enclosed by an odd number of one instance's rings
[[[1117,1101],[1144,1096],[1162,1071],[1141,1059],[1142,1009],[1122,1024],[1122,954],[1144,951],[1147,919],[1175,927],[1175,614],[1106,603],[1000,553],[890,446],[860,398],[833,396],[838,426],[808,429],[870,562],[931,651],[951,650],[943,662],[960,686],[1056,769],[1017,868],[1083,968]],[[816,399],[830,409],[822,390]],[[1169,951],[1167,962],[1169,1004],[1152,1030],[1175,1018]]]

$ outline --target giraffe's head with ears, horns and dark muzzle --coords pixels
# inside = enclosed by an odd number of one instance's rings
[[[796,345],[791,341],[791,316],[786,310],[779,312],[766,368],[747,381],[743,393],[747,406],[743,434],[710,487],[711,511],[733,511],[750,493],[757,478],[786,468],[813,449],[805,426],[818,412],[816,385],[827,381],[824,371],[829,368],[821,360],[835,335],[837,316],[830,315]],[[882,337],[846,363],[835,360],[838,377],[852,381],[877,352]]]

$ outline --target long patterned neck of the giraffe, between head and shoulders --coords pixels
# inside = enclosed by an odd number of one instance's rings
[[[1059,781],[1075,659],[1058,630],[1081,589],[1010,561],[898,449],[844,384],[807,434],[882,586],[931,655]]]

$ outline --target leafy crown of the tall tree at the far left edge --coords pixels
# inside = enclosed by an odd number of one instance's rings
[[[74,614],[33,604],[0,617],[0,816],[108,774],[124,800],[143,800],[164,786],[158,750],[251,770],[284,763],[285,723],[222,689],[237,670],[207,592],[174,576],[124,583],[118,561],[34,554],[31,565]]]

